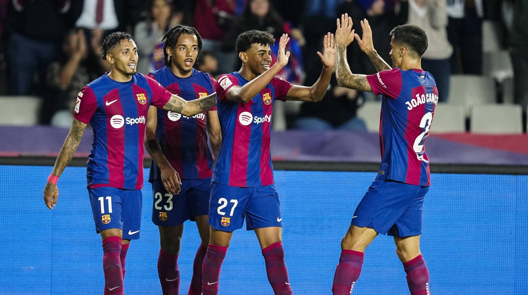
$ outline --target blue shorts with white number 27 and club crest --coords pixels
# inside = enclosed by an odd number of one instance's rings
[[[209,224],[215,230],[232,232],[246,229],[282,227],[279,194],[275,184],[239,188],[213,182],[209,201]]]

